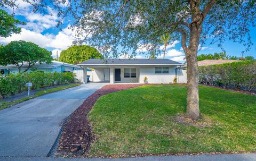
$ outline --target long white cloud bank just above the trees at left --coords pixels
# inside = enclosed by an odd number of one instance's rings
[[[15,40],[25,40],[41,47],[52,47],[63,50],[72,45],[75,40],[74,35],[75,31],[71,31],[68,27],[60,31],[57,35],[42,35],[41,33],[22,28],[20,34],[13,34],[7,38],[0,37],[0,43],[7,44]]]

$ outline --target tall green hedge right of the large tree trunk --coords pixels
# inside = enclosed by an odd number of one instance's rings
[[[256,61],[199,66],[199,82],[211,86],[249,90],[256,88]]]

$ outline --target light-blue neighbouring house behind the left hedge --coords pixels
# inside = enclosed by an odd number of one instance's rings
[[[21,67],[21,72],[26,70],[27,66],[28,66],[28,64],[25,63]],[[35,70],[45,71],[45,72],[73,72],[73,71],[83,70],[83,68],[80,66],[77,66],[77,65],[73,65],[73,64],[52,61],[51,64],[36,63],[27,72],[35,71]],[[1,72],[1,74],[18,73],[19,69],[16,65],[0,66],[0,72]]]

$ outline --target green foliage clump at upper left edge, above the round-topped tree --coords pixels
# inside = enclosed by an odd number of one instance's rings
[[[12,15],[0,9],[0,37],[9,37],[13,33],[20,33],[19,24],[25,24],[15,19]]]

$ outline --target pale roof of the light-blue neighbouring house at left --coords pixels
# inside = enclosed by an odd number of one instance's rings
[[[39,64],[39,63],[36,63],[33,67],[36,67],[38,69],[51,69],[51,68],[54,68],[54,67],[58,67],[58,66],[68,66],[68,67],[78,67],[78,68],[81,68],[81,66],[78,66],[78,65],[74,65],[74,64],[68,64],[68,63],[63,63],[63,62],[58,62],[58,61],[52,61],[51,64],[46,64],[46,63],[42,63],[42,64]],[[22,65],[22,68],[27,68],[28,67],[28,63],[24,63]],[[6,65],[6,66],[0,66],[0,69],[16,69],[17,66],[16,65]]]

